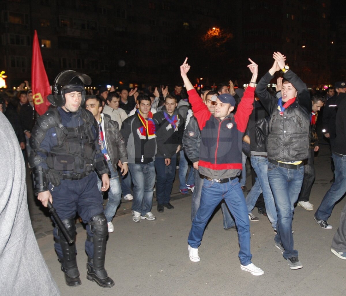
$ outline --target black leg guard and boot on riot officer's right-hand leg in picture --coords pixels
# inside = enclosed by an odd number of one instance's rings
[[[88,236],[88,240],[93,242],[94,256],[88,256],[86,263],[87,275],[86,278],[95,281],[99,286],[110,288],[114,286],[114,281],[107,275],[104,269],[104,257],[106,254],[106,240],[108,235],[108,225],[106,216],[98,214],[93,216],[88,223],[90,230],[94,234],[93,237]]]

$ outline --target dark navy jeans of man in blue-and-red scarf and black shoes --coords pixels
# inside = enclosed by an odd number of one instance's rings
[[[156,200],[157,204],[170,202],[173,181],[176,170],[176,154],[171,158],[171,164],[166,166],[163,157],[155,157],[156,169]]]

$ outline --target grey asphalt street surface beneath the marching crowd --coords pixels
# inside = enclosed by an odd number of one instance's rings
[[[310,202],[319,206],[330,188],[333,177],[327,145],[321,145],[315,157],[316,181]],[[82,285],[68,287],[53,247],[53,225],[47,210],[32,194],[28,179],[28,204],[33,229],[40,250],[60,288],[61,295],[345,295],[346,260],[330,252],[331,240],[338,227],[346,198],[334,208],[328,222],[333,229],[325,230],[313,220],[315,211],[297,206],[293,219],[294,247],[299,251],[303,268],[291,270],[275,247],[274,232],[266,216],[251,222],[253,263],[264,275],[253,276],[240,269],[237,232],[225,231],[222,213],[217,211],[204,232],[199,247],[200,262],[189,260],[187,238],[191,228],[191,192],[179,192],[176,176],[171,203],[175,209],[158,213],[154,199],[155,221],[132,221],[131,202],[120,204],[113,219],[115,231],[109,234],[106,270],[115,281],[109,289],[86,279],[86,231],[77,220],[77,261]],[[251,188],[251,177],[247,177]]]

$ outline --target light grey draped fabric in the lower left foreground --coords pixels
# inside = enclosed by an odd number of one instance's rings
[[[1,112],[0,291],[1,295],[60,295],[31,227],[23,155]]]

